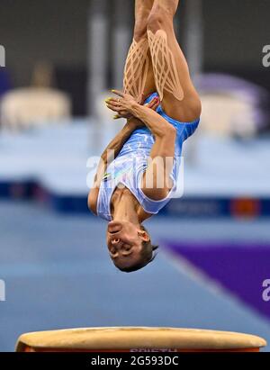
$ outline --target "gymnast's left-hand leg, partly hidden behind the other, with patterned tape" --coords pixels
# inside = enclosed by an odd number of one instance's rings
[[[148,45],[147,24],[154,0],[135,1],[135,27],[124,68],[123,90],[137,100],[157,91]]]

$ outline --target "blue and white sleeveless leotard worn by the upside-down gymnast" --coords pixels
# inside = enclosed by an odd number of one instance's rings
[[[145,104],[148,104],[157,93],[149,95]],[[173,197],[179,173],[182,146],[184,140],[188,139],[197,129],[200,120],[195,122],[178,122],[166,115],[161,105],[157,107],[157,113],[175,126],[175,158],[171,173],[173,188],[165,199],[154,201],[149,199],[140,188],[140,180],[148,166],[148,157],[155,142],[154,136],[147,127],[133,131],[130,139],[123,145],[118,157],[107,167],[106,174],[101,182],[98,199],[97,215],[106,221],[112,221],[111,199],[116,186],[123,185],[137,198],[143,210],[147,213],[156,214]]]

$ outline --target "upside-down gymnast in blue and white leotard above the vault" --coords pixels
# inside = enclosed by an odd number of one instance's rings
[[[154,259],[157,246],[142,222],[174,196],[177,158],[200,122],[200,98],[175,38],[178,3],[135,0],[124,89],[112,90],[117,97],[106,100],[115,118],[127,122],[103,151],[88,206],[109,221],[109,253],[123,272],[139,270]]]

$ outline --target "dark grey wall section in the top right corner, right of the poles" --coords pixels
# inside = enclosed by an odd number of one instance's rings
[[[269,0],[203,0],[208,67],[262,68],[270,43]]]

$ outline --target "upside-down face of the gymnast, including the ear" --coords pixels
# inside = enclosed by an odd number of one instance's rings
[[[111,221],[107,229],[107,245],[115,266],[129,268],[141,260],[142,242],[148,233],[129,221]]]

